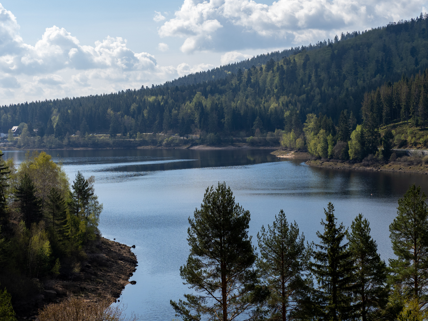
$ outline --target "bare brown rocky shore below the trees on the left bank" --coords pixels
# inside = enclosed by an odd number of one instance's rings
[[[16,317],[21,320],[36,320],[38,310],[50,303],[59,303],[71,296],[83,297],[99,303],[106,298],[111,303],[122,294],[125,285],[136,270],[137,257],[131,247],[106,238],[95,244],[95,253],[88,253],[80,271],[70,278],[40,280],[40,293],[21,304],[14,305]]]

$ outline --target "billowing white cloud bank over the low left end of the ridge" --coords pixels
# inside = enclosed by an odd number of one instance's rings
[[[209,66],[160,66],[155,56],[132,51],[121,37],[83,45],[56,26],[30,45],[19,29],[12,12],[0,4],[0,105],[140,88]],[[158,49],[169,48],[160,43]]]

